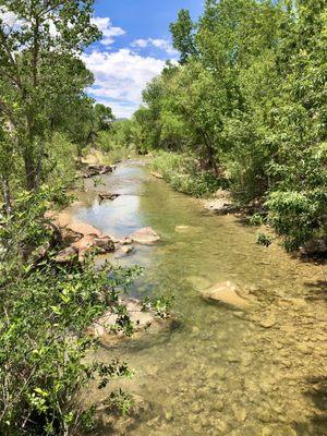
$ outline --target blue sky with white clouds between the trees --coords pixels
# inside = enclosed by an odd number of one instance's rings
[[[96,101],[110,106],[117,118],[129,118],[142,100],[146,84],[168,59],[177,60],[169,24],[180,9],[194,20],[204,0],[96,0],[94,22],[102,39],[88,47],[83,59],[94,73],[87,89]]]

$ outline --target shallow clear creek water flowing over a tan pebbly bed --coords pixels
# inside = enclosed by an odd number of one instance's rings
[[[160,234],[154,246],[108,258],[144,266],[132,294],[173,294],[181,322],[99,350],[98,360],[118,356],[135,374],[105,391],[89,387],[87,401],[122,386],[146,404],[114,424],[105,420],[100,434],[326,436],[326,267],[291,258],[277,243],[257,245],[257,229],[204,211],[142,161],[118,166],[98,187],[85,183],[75,218],[116,237],[148,226]],[[99,203],[97,191],[121,195]],[[201,299],[201,288],[225,280],[252,289],[258,308],[243,313]]]

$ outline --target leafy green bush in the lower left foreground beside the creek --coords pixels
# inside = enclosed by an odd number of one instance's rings
[[[110,266],[95,271],[86,264],[82,271],[45,264],[1,289],[2,434],[73,434],[83,412],[78,389],[96,374],[105,383],[129,374],[118,362],[107,371],[84,363],[93,346],[84,330],[117,301],[125,274]]]

